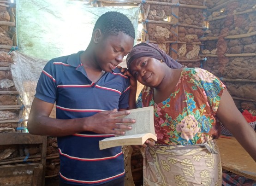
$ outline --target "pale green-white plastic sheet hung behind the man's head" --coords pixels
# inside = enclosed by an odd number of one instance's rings
[[[85,50],[105,12],[125,14],[137,33],[139,7],[96,8],[81,0],[16,0],[16,7],[18,51],[40,59]]]

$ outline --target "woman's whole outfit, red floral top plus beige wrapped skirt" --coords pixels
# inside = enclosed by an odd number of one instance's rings
[[[221,186],[215,116],[225,85],[200,68],[185,68],[169,98],[156,104],[143,87],[137,107],[154,106],[154,147],[144,149],[143,186]]]

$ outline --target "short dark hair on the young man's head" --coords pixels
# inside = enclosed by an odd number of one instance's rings
[[[135,39],[135,31],[131,20],[120,12],[106,12],[98,18],[94,29],[100,29],[101,33],[109,35],[118,35],[119,31]]]

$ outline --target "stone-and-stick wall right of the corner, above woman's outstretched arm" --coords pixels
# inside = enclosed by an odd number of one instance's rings
[[[238,108],[256,109],[256,1],[209,0],[203,68],[226,84]],[[219,7],[219,8],[215,8]]]

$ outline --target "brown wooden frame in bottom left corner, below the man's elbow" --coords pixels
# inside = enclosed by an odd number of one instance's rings
[[[42,144],[40,163],[0,166],[0,185],[44,186],[47,137],[30,133],[1,133],[0,145]]]

